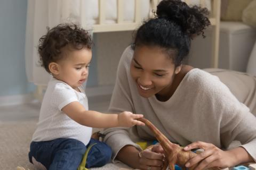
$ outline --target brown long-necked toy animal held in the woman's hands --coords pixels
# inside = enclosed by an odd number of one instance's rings
[[[139,121],[145,123],[148,128],[154,133],[156,139],[162,146],[165,155],[165,162],[163,166],[163,170],[167,168],[169,165],[169,169],[174,170],[175,164],[179,165],[182,170],[185,170],[185,164],[190,158],[195,157],[197,154],[191,151],[185,151],[182,147],[177,144],[172,143],[169,139],[165,137],[165,135],[160,132],[156,126],[154,126],[149,120],[146,118],[138,118]],[[197,165],[190,167],[188,169],[194,169]]]

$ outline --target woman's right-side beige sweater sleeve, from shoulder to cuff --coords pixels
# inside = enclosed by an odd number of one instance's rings
[[[201,76],[204,95],[211,98],[209,111],[214,111],[216,122],[220,127],[220,142],[227,148],[234,141],[240,141],[243,147],[256,160],[256,117],[250,109],[231,93],[229,88],[217,77],[211,81]],[[209,80],[209,81],[207,81]]]

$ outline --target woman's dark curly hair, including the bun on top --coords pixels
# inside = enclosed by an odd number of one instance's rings
[[[159,46],[179,66],[189,53],[190,40],[196,35],[205,37],[204,29],[210,25],[207,15],[207,8],[189,7],[180,0],[163,0],[157,5],[156,17],[135,32],[132,48]]]

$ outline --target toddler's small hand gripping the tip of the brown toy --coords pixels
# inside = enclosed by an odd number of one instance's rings
[[[145,123],[136,120],[143,117],[141,114],[133,114],[131,112],[122,112],[118,114],[118,126],[131,127],[134,125],[145,125]]]

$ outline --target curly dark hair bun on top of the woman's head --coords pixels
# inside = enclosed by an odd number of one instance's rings
[[[207,8],[199,6],[189,7],[180,0],[163,0],[157,5],[157,18],[164,18],[180,25],[183,32],[190,37],[200,35],[210,25]],[[203,35],[204,36],[204,35]]]

